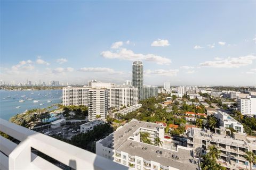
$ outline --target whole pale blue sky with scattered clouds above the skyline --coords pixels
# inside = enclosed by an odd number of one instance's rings
[[[256,1],[1,1],[0,79],[256,86]]]

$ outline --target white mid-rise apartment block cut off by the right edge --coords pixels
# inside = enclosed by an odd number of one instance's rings
[[[243,115],[256,115],[256,98],[239,98],[237,101],[238,111]]]

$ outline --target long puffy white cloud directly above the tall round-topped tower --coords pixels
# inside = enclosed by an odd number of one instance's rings
[[[105,58],[110,58],[114,59],[117,58],[119,60],[130,60],[130,61],[135,61],[135,60],[144,60],[147,62],[153,62],[157,64],[170,64],[171,60],[166,57],[154,55],[154,54],[136,54],[132,50],[122,48],[120,50],[117,50],[116,52],[111,52],[111,51],[105,51],[102,52],[101,55]]]

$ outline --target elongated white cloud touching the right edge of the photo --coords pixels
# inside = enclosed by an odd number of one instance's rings
[[[241,66],[252,64],[252,61],[256,60],[256,56],[247,55],[241,57],[228,57],[217,61],[206,61],[200,63],[203,67],[218,67],[218,68],[238,68]]]

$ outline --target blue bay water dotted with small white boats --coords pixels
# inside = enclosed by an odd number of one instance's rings
[[[26,97],[21,97],[23,95]],[[62,97],[62,90],[0,90],[0,118],[9,120],[12,116],[23,113],[26,110],[46,108],[53,104],[60,104],[62,103],[60,97]],[[27,98],[32,98],[32,100],[28,100]],[[25,101],[19,102],[19,100]],[[34,100],[39,100],[39,102],[33,103]],[[47,103],[47,100],[51,100],[52,102]],[[20,106],[20,108],[16,108],[17,106]]]

